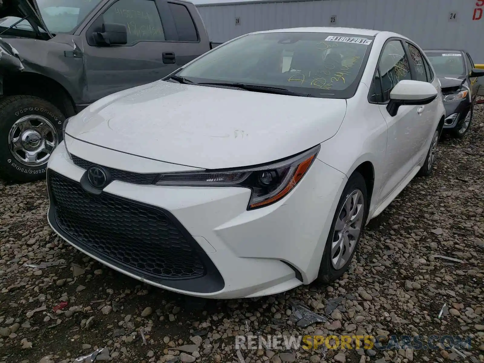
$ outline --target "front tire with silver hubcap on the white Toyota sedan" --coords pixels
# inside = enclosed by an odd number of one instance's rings
[[[326,240],[326,246],[324,248],[324,253],[323,257],[321,258],[321,265],[319,266],[319,273],[318,273],[318,278],[316,281],[320,283],[330,283],[334,280],[339,279],[347,270],[348,267],[351,263],[351,259],[353,258],[353,255],[356,251],[356,248],[358,247],[358,243],[360,242],[360,237],[362,235],[363,227],[365,225],[366,218],[368,216],[368,201],[367,201],[367,190],[366,190],[366,183],[363,179],[363,176],[358,173],[354,172],[348,179],[348,182],[346,183],[345,189],[343,190],[343,194],[341,195],[339,202],[338,202],[338,207],[336,208],[336,212],[333,217],[333,223],[331,224],[331,230],[328,234],[328,239]],[[346,207],[346,201],[350,197],[356,197],[357,204],[359,207],[358,209],[355,210],[355,213],[352,213],[353,216],[359,215],[359,218],[353,219],[354,223],[348,224],[345,223],[344,225],[341,225],[340,223],[337,223],[338,221],[345,221],[345,217],[348,215],[346,213],[347,207]],[[350,204],[350,210],[354,208],[354,200],[355,198],[352,198],[352,202]],[[342,217],[343,216],[343,217]],[[344,227],[343,227],[344,226]],[[351,229],[347,229],[348,227],[358,227],[358,236],[354,236],[351,233],[348,233],[351,231]],[[339,236],[341,236],[340,231],[343,230],[341,233],[342,235],[347,235],[348,237],[351,237],[348,239],[348,245],[346,248],[343,248],[343,253],[338,254],[338,251],[341,251],[341,247],[338,249],[336,244],[335,247],[333,248],[333,241],[334,239],[341,241],[341,239],[338,239]],[[337,235],[336,235],[337,234]],[[356,234],[356,233],[355,233]],[[344,239],[343,239],[344,242]],[[336,252],[335,254],[332,253]],[[340,259],[340,261],[333,261],[333,257],[335,256],[342,256],[343,258]],[[345,256],[346,255],[346,256]],[[335,258],[336,259],[336,258]],[[336,263],[335,263],[336,262]]]

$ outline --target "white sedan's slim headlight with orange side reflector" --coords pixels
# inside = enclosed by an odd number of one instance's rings
[[[285,197],[301,181],[320,146],[270,165],[221,171],[162,174],[156,185],[239,186],[252,190],[248,210],[268,206]]]

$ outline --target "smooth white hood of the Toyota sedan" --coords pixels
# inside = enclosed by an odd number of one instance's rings
[[[72,118],[79,140],[205,169],[253,166],[334,136],[346,100],[156,81],[114,93]]]

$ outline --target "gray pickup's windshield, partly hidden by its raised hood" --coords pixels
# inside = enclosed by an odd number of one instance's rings
[[[40,14],[47,29],[52,33],[69,33],[77,28],[82,20],[94,9],[100,0],[37,0]],[[0,19],[0,27],[8,28],[21,18],[8,16]],[[16,24],[13,29],[33,31],[27,19]],[[39,29],[45,32],[43,29]]]

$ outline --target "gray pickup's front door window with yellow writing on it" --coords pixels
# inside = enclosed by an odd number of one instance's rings
[[[163,42],[165,33],[152,0],[119,0],[103,14],[106,23],[124,24],[128,32],[127,45],[139,41]]]

